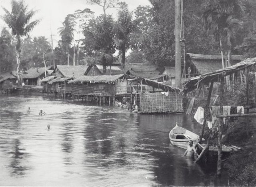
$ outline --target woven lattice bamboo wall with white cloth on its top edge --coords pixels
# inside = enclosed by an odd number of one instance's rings
[[[182,96],[177,92],[170,92],[168,96],[156,93],[140,94],[140,112],[184,112]]]

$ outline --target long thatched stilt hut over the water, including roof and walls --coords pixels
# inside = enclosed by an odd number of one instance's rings
[[[72,94],[78,98],[96,99],[97,102],[114,102],[116,96],[127,94],[129,75],[82,76],[68,83],[72,85]],[[110,101],[112,98],[112,101]]]

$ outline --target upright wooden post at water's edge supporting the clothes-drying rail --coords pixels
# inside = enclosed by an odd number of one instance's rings
[[[223,113],[224,102],[224,77],[220,79],[220,114]],[[219,118],[219,132],[218,132],[218,163],[217,163],[217,175],[221,174],[221,152],[222,152],[222,126],[223,118]]]

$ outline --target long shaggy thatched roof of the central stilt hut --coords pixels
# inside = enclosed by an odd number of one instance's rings
[[[81,84],[81,83],[108,83],[113,84],[117,79],[124,77],[125,74],[120,75],[96,75],[96,76],[81,76],[77,77],[72,81],[68,81],[68,83],[73,84]]]

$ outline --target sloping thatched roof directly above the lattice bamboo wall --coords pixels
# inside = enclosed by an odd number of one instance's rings
[[[142,80],[143,85],[149,85],[149,86],[152,86],[154,88],[162,89],[164,91],[178,91],[178,92],[181,91],[181,89],[179,89],[179,88],[171,87],[169,85],[164,85],[163,83],[158,83],[156,81],[146,79],[146,78],[143,78],[143,77],[138,77],[138,78],[135,78],[135,79],[128,79],[128,81],[131,81],[131,82],[140,81],[140,80]]]

